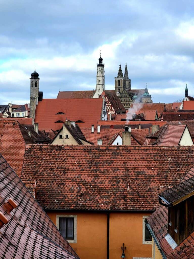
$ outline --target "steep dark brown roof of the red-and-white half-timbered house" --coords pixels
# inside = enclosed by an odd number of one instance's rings
[[[106,95],[108,98],[110,104],[113,106],[115,112],[126,112],[125,107],[122,105],[120,99],[118,96],[115,94],[115,92],[105,90],[101,93],[101,96]]]

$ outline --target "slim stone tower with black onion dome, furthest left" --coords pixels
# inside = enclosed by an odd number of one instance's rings
[[[38,104],[39,97],[39,74],[34,69],[30,78],[30,118],[32,118],[32,123],[34,124],[36,105]]]

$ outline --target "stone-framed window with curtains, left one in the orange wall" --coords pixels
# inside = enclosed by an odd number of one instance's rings
[[[56,215],[56,225],[69,243],[77,243],[77,215]]]

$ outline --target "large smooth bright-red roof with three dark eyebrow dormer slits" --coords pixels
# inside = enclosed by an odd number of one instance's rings
[[[39,124],[40,129],[51,128],[54,131],[61,129],[66,118],[75,122],[83,121],[77,123],[79,127],[91,127],[101,119],[102,103],[102,98],[43,99],[36,106],[35,122]],[[59,112],[64,114],[57,114]]]

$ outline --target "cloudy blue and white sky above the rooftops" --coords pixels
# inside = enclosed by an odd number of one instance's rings
[[[36,67],[43,98],[93,90],[102,52],[105,89],[127,63],[132,89],[153,102],[194,96],[194,1],[0,0],[0,104],[29,103]]]

